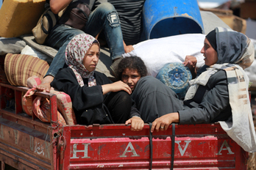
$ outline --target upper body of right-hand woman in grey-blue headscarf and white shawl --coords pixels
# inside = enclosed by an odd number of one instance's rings
[[[205,66],[190,81],[184,108],[155,119],[152,132],[167,130],[173,122],[220,122],[221,127],[244,150],[256,152],[248,94],[249,78],[243,71],[255,58],[251,40],[240,32],[217,27],[205,37],[201,52],[205,56]]]

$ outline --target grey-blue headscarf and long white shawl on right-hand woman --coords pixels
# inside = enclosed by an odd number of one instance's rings
[[[210,76],[218,70],[225,70],[229,91],[232,119],[220,121],[221,127],[237,144],[247,152],[256,152],[256,135],[249,101],[249,78],[243,69],[255,59],[255,48],[246,35],[217,27],[216,51],[218,62],[196,79],[190,81],[185,100],[192,99],[199,85],[205,86]]]

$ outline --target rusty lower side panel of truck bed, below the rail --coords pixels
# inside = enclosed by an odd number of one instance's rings
[[[0,153],[15,164],[51,169],[50,145],[47,134],[0,118]]]

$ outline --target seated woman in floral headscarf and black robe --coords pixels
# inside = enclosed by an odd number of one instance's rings
[[[129,86],[122,81],[113,83],[95,71],[99,50],[99,42],[89,34],[75,36],[65,51],[68,67],[58,71],[51,86],[70,95],[80,125],[124,123],[129,118],[143,122],[129,96]]]

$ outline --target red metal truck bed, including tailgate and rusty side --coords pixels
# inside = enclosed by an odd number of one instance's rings
[[[7,108],[7,89],[15,94],[15,109]],[[40,122],[22,111],[21,92],[26,90],[0,84],[3,170],[4,163],[15,169],[246,169],[248,152],[218,123],[176,124],[174,136],[170,125],[166,131],[154,132],[150,143],[149,125],[138,132],[129,130],[129,125],[61,127],[56,95],[36,92],[51,102],[52,122]]]

